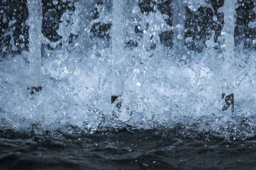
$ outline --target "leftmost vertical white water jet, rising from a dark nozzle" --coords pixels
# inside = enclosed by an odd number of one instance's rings
[[[42,3],[41,0],[28,0],[29,25],[29,64],[30,78],[28,89],[31,94],[42,90],[41,85],[41,37],[42,37]]]

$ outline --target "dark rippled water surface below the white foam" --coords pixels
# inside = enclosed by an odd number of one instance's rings
[[[256,169],[256,140],[183,138],[169,131],[0,132],[0,169]]]

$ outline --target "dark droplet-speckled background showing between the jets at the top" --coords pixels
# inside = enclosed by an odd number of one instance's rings
[[[212,4],[214,13],[217,16],[219,23],[223,24],[223,14],[217,13],[217,9],[222,7],[224,0],[206,0],[209,4]],[[28,10],[26,7],[26,0],[2,0],[0,2],[0,60],[5,58],[7,54],[19,54],[23,50],[28,51],[28,29],[25,24],[28,18]],[[151,0],[140,0],[139,7],[142,13],[147,15],[148,12],[155,12],[150,3],[157,5],[162,14],[167,14],[169,19],[166,23],[172,25],[172,0],[160,0],[157,3]],[[244,48],[255,48],[255,44],[252,40],[255,39],[256,30],[250,29],[248,23],[255,20],[255,13],[253,12],[253,0],[238,0],[239,7],[236,8],[236,27],[235,27],[235,45],[240,42],[244,43]],[[244,3],[244,6],[242,4]],[[57,34],[59,28],[60,17],[66,11],[75,10],[74,0],[67,0],[63,3],[58,0],[58,4],[54,5],[52,0],[42,0],[43,4],[43,24],[42,33],[50,41],[58,41],[61,36]],[[96,4],[95,4],[96,5]],[[99,0],[97,5],[110,6],[111,1]],[[91,12],[88,12],[92,20],[99,17],[98,8],[92,8]],[[12,25],[9,25],[9,21],[16,20]],[[198,27],[200,28],[198,30]],[[205,41],[210,38],[212,31],[215,31],[214,41],[217,42],[217,37],[221,32],[221,25],[213,21],[213,11],[208,7],[199,7],[196,12],[192,12],[186,7],[186,21],[185,21],[185,39],[192,37],[193,41],[185,43],[189,50],[195,50],[201,52],[205,48]],[[91,29],[91,38],[94,36],[110,40],[109,29],[111,29],[111,23],[95,23]],[[134,27],[134,32],[143,36],[143,33]],[[14,45],[12,47],[11,34],[13,33]],[[160,36],[161,42],[165,46],[172,47],[172,31],[162,32]],[[199,36],[198,36],[199,35]],[[72,42],[78,35],[70,35],[69,42]],[[20,45],[24,44],[24,46]],[[60,43],[61,46],[61,43]],[[137,46],[136,40],[127,42],[127,46],[132,48]],[[42,48],[50,48],[50,46],[44,46]],[[215,47],[219,49],[219,46]],[[51,48],[50,48],[51,49]],[[220,50],[220,49],[219,49]]]

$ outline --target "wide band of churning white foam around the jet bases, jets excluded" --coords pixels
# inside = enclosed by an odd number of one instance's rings
[[[237,60],[235,67],[234,113],[221,110],[222,65],[213,49],[193,53],[194,60],[187,65],[173,62],[168,53],[157,67],[150,64],[147,52],[133,57],[127,63],[124,93],[113,104],[110,50],[101,51],[100,57],[97,49],[88,52],[88,57],[70,54],[65,67],[58,65],[58,51],[51,52],[43,58],[43,91],[35,95],[26,90],[26,54],[2,62],[3,126],[25,129],[36,123],[51,129],[73,124],[95,132],[101,126],[148,129],[183,124],[197,131],[254,135],[254,52],[236,54],[243,60]]]

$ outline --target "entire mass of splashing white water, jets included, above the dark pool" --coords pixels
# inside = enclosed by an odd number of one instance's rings
[[[202,53],[186,49],[183,1],[173,1],[174,29],[156,1],[145,13],[136,0],[115,0],[107,5],[74,2],[74,10],[67,9],[61,16],[57,32],[62,38],[50,44],[54,50],[44,49],[42,63],[38,55],[42,6],[33,3],[28,1],[29,13],[34,11],[36,17],[28,20],[29,63],[24,60],[26,52],[1,63],[0,116],[6,126],[26,129],[39,124],[45,130],[72,124],[95,133],[108,128],[162,129],[179,124],[186,130],[216,132],[227,139],[241,133],[254,136],[255,53],[244,52],[240,46],[234,51],[235,2],[224,3],[222,53],[210,48],[216,45],[213,37],[209,37],[213,45]],[[90,15],[95,7],[99,16],[93,19]],[[92,36],[96,28],[106,30]],[[173,50],[163,46],[159,37],[170,30],[174,32]],[[77,39],[69,43],[71,35]],[[37,65],[32,67],[35,77],[28,74],[30,64]],[[43,91],[28,94],[28,79],[39,85],[40,74]],[[236,96],[233,114],[222,111],[223,79],[228,87],[225,93]],[[121,96],[111,104],[111,95]],[[251,130],[239,126],[243,120]]]

